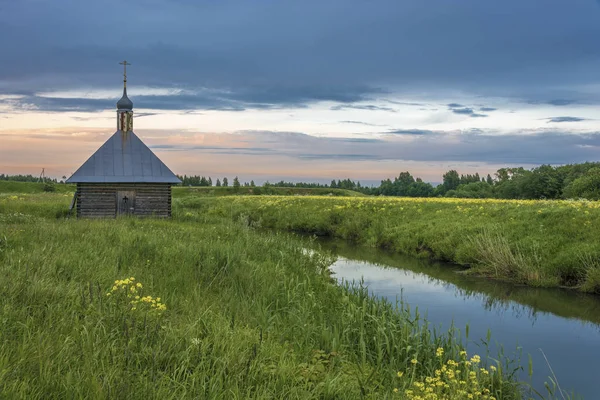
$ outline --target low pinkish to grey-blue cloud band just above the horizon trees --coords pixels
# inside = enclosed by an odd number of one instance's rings
[[[0,130],[0,167],[11,173],[39,172],[44,167],[55,171],[53,175],[68,175],[108,138],[104,131]],[[409,170],[415,176],[437,181],[448,169],[491,173],[505,166],[580,163],[597,160],[600,151],[600,131],[569,134],[556,129],[508,134],[482,129],[432,130],[377,138],[330,138],[276,131],[146,129],[136,133],[174,172],[213,179],[239,175],[246,180],[351,177],[362,181]]]

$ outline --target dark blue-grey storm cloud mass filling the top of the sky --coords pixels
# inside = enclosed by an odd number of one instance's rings
[[[599,19],[584,0],[2,1],[0,93],[115,87],[127,58],[132,88],[230,92],[183,109],[351,103],[381,88],[598,103],[578,88],[598,79]]]

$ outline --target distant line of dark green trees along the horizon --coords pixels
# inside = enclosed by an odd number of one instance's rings
[[[226,177],[215,181],[211,177],[197,175],[178,177],[183,186],[256,186],[253,180],[241,183],[237,176],[231,183]],[[38,182],[40,177],[0,174],[0,180]],[[58,183],[50,178],[45,178],[44,182]],[[531,170],[522,167],[500,168],[494,176],[480,176],[478,173],[462,175],[450,170],[442,176],[442,183],[435,187],[413,177],[410,172],[401,172],[393,180],[382,180],[379,186],[362,186],[358,181],[344,179],[332,180],[330,184],[267,181],[262,187],[347,189],[373,196],[600,200],[600,162],[559,167],[541,165]]]

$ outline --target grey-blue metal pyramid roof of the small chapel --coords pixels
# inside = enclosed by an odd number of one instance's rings
[[[67,183],[181,183],[132,131],[115,132]]]

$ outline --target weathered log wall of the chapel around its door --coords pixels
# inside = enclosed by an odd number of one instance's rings
[[[171,184],[168,183],[78,183],[77,217],[117,217],[117,192],[135,192],[132,215],[171,217]]]

